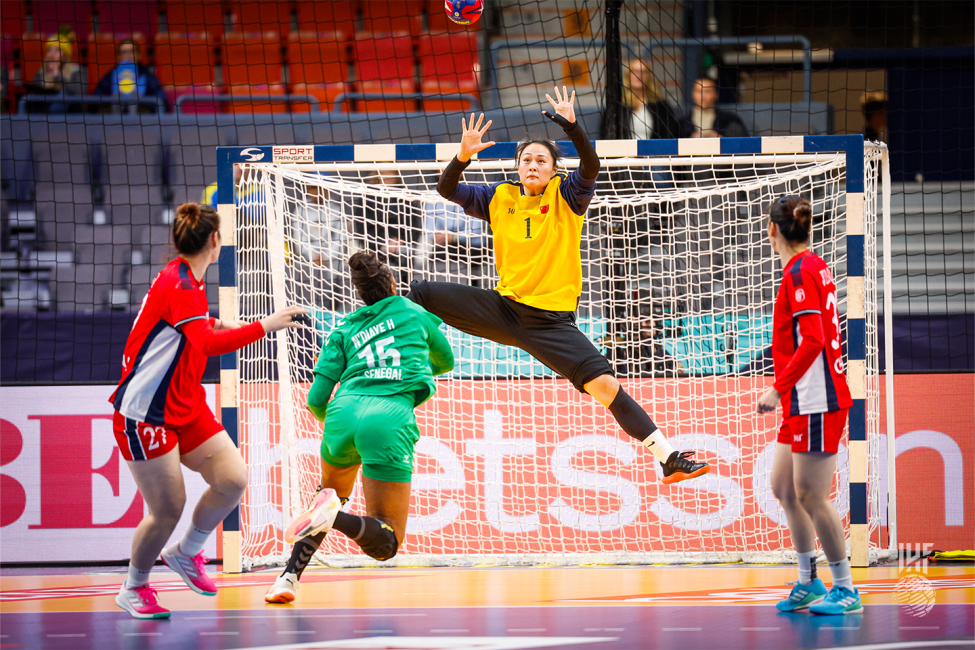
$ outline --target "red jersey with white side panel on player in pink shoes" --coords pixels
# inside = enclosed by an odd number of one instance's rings
[[[122,360],[122,381],[110,401],[123,416],[146,424],[180,426],[206,405],[200,382],[207,355],[189,345],[183,327],[209,321],[206,288],[186,260],[159,272],[142,301]],[[209,323],[208,323],[209,325]]]

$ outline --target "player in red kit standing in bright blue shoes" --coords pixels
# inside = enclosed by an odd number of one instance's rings
[[[775,383],[759,399],[758,412],[782,403],[772,492],[785,510],[799,557],[799,580],[776,607],[855,614],[863,605],[850,575],[843,523],[829,498],[853,400],[843,367],[836,285],[826,263],[809,250],[811,222],[812,206],[798,196],[783,196],[769,210],[769,240],[784,272],[772,322]],[[817,537],[833,576],[828,594],[816,576]]]

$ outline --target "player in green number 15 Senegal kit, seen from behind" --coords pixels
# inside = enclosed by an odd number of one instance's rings
[[[366,306],[336,323],[315,365],[308,409],[325,423],[322,484],[285,531],[295,545],[264,597],[269,603],[295,599],[301,572],[332,528],[377,560],[396,555],[406,536],[413,448],[420,438],[413,409],[436,392],[433,376],[454,367],[442,321],[396,295],[386,264],[359,252],[349,266]],[[366,517],[342,512],[360,466]]]

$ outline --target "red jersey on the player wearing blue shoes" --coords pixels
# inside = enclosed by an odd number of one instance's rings
[[[812,251],[786,264],[775,299],[772,361],[786,417],[827,413],[853,404],[843,367],[836,285]]]

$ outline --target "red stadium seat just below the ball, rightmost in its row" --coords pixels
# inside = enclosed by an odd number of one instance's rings
[[[420,90],[425,95],[423,110],[442,112],[473,109],[469,99],[442,99],[438,95],[477,95],[480,70],[477,35],[439,34],[421,36],[419,40]]]

